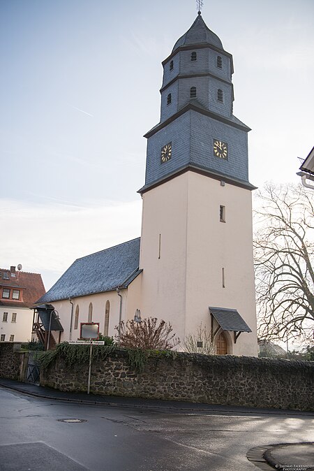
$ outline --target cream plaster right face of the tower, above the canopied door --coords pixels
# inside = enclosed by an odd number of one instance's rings
[[[209,326],[209,305],[237,309],[253,333],[230,353],[257,356],[251,191],[189,172],[187,224],[186,332]]]

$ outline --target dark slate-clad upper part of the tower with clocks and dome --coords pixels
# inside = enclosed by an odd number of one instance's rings
[[[251,129],[233,114],[232,55],[200,12],[162,64],[160,122],[144,136],[147,165],[139,192],[186,171],[255,189],[248,181]]]

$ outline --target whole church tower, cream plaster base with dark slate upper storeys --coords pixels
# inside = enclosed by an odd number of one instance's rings
[[[147,138],[140,248],[144,317],[216,353],[257,355],[248,131],[232,113],[232,55],[200,12],[163,61]]]

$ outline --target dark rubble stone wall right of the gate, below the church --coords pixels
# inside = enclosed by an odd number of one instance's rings
[[[98,347],[99,348],[99,347]],[[91,370],[91,393],[197,403],[314,410],[314,362],[178,352],[152,354],[142,372],[117,349]],[[88,364],[69,368],[60,355],[42,370],[40,384],[87,391]]]

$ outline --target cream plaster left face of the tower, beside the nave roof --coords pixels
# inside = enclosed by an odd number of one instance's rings
[[[142,317],[170,321],[184,338],[188,175],[143,195],[140,279]],[[160,258],[159,258],[160,234]]]

